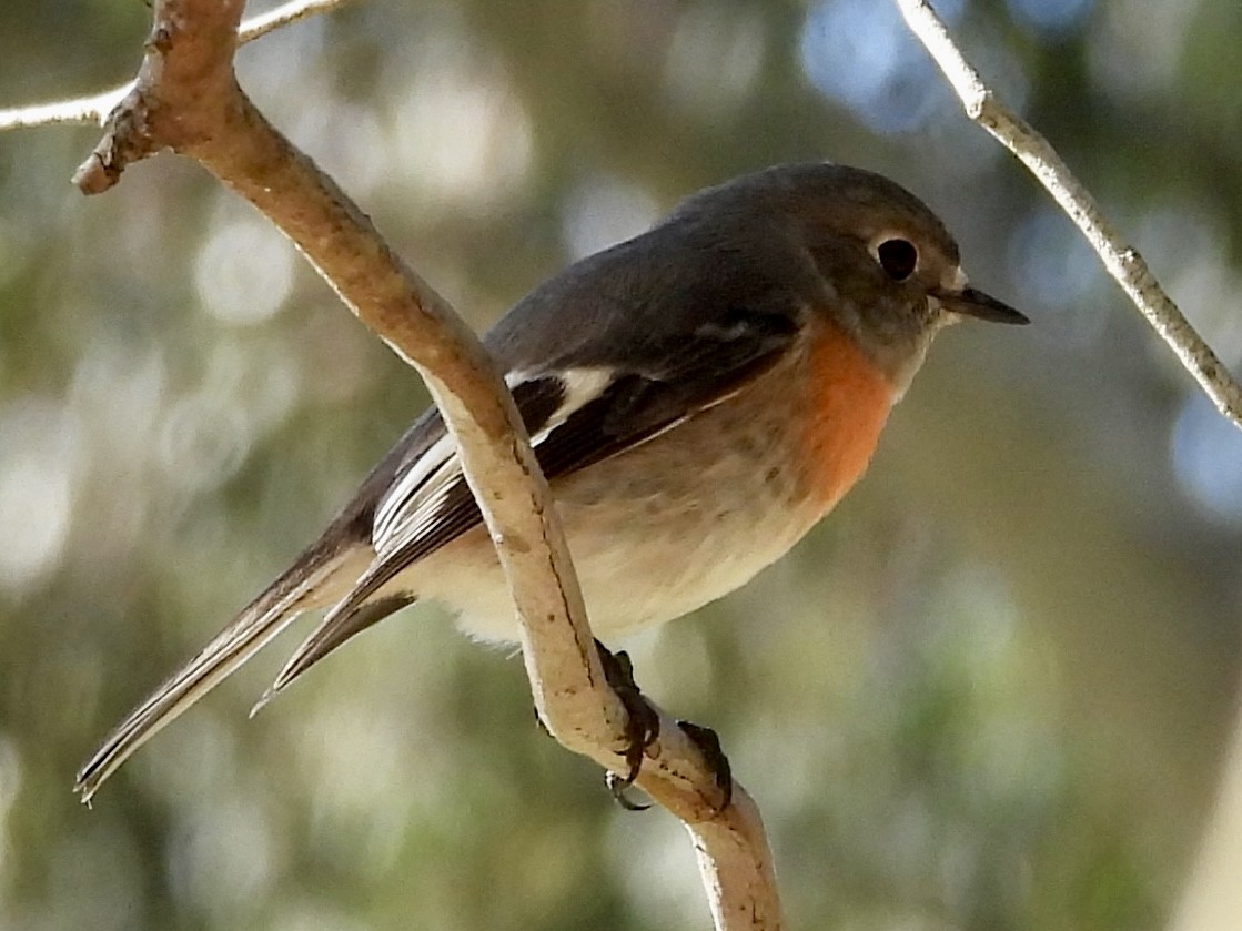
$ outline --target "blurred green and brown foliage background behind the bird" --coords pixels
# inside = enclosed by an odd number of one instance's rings
[[[1236,0],[941,6],[1238,370]],[[125,79],[147,16],[0,5],[2,103]],[[765,164],[939,210],[1035,325],[941,338],[831,520],[623,645],[720,732],[791,927],[1163,925],[1235,706],[1242,443],[888,4],[369,0],[240,71],[479,326]],[[433,606],[247,720],[263,657],[76,804],[93,741],[426,403],[201,171],[81,199],[96,137],[0,137],[0,927],[705,927],[676,823],[619,812]]]

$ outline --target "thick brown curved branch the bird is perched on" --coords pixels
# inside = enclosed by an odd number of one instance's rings
[[[297,246],[426,379],[457,441],[522,621],[540,717],[568,749],[625,771],[626,711],[607,686],[546,482],[491,358],[366,216],[251,104],[232,72],[242,0],[161,0],[133,89],[75,182],[104,191],[169,148],[202,164]],[[720,931],[779,929],[771,855],[740,786],[732,804],[667,715],[638,785],[693,835]]]

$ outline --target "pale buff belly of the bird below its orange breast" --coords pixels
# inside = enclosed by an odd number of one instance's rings
[[[745,585],[862,473],[866,456],[826,493],[814,464],[794,464],[809,442],[807,417],[794,416],[804,413],[795,408],[815,400],[781,394],[781,384],[748,391],[554,483],[591,627],[602,639],[671,621]],[[886,415],[887,405],[878,417],[845,417],[830,432],[843,448],[862,444],[869,456]],[[822,444],[823,431],[812,439]],[[508,590],[481,529],[422,560],[402,581],[457,611],[471,636],[518,639]]]

